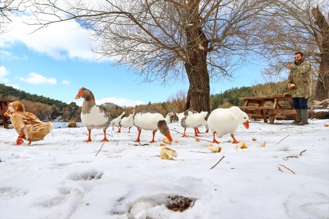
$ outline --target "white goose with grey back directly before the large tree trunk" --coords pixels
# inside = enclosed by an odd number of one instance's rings
[[[198,127],[205,125],[204,122],[206,122],[205,118],[208,115],[208,112],[201,112],[198,113],[196,111],[193,111],[192,109],[188,109],[184,112],[185,117],[181,119],[181,126],[184,128],[184,135],[182,137],[187,137],[185,135],[186,128],[193,127],[195,136],[198,137]],[[200,133],[200,132],[199,132]]]

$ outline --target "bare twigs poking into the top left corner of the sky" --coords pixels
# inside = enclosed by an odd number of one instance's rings
[[[11,22],[10,16],[14,11],[23,12],[25,7],[22,7],[27,1],[17,0],[0,0],[0,35],[6,33],[7,24]]]

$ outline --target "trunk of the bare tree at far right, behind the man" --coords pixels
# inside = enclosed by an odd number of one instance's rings
[[[312,9],[312,14],[322,36],[316,35],[317,44],[321,52],[321,61],[313,99],[322,101],[329,98],[329,25],[320,12],[319,6]]]

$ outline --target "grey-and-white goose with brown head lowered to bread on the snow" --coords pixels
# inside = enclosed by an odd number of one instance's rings
[[[138,111],[133,116],[133,123],[137,127],[138,130],[138,137],[135,142],[140,142],[140,136],[142,129],[144,130],[152,130],[153,131],[153,138],[150,143],[155,142],[154,141],[154,135],[155,132],[160,130],[161,134],[166,136],[169,141],[172,141],[169,127],[167,123],[169,123],[170,116],[175,115],[175,113],[168,113],[166,115],[166,118],[163,117],[163,115],[158,111],[155,107],[150,106],[144,106],[140,111]]]

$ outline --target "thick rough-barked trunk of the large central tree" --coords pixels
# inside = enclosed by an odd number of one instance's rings
[[[204,32],[200,27],[198,13],[200,0],[188,1],[185,34],[188,62],[185,70],[189,81],[186,109],[210,113],[210,79],[207,70],[206,56],[209,51]]]

